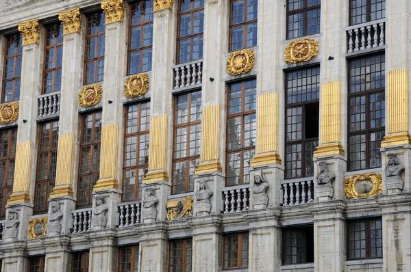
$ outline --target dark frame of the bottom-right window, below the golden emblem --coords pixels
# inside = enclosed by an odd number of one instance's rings
[[[381,223],[381,240],[383,240],[383,235],[384,232],[382,231],[382,217],[371,217],[371,218],[362,218],[362,219],[353,219],[353,220],[349,220],[347,221],[347,260],[364,260],[364,259],[374,259],[374,258],[383,258],[384,256],[384,246],[382,246],[382,255],[381,256],[373,256],[371,257],[371,221],[380,221]],[[349,250],[350,250],[350,246],[349,246],[349,232],[350,232],[350,228],[352,228],[352,225],[358,222],[364,222],[366,224],[366,228],[365,228],[365,253],[366,253],[366,257],[363,258],[349,258]],[[356,240],[354,240],[356,241]],[[377,248],[377,247],[376,247]]]

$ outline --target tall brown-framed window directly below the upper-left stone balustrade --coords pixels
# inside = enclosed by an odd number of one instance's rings
[[[47,202],[54,187],[57,165],[58,121],[42,124],[39,139],[34,211],[47,213]]]

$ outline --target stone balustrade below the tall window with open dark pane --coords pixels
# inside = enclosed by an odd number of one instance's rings
[[[283,191],[284,202],[283,206],[292,206],[299,204],[306,204],[314,201],[314,181],[292,181],[284,180],[281,185]]]

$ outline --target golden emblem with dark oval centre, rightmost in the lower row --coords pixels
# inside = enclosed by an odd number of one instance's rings
[[[347,198],[368,198],[382,193],[382,175],[369,173],[351,176],[345,179]]]

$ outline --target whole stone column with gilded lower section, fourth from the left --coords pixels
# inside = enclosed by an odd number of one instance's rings
[[[173,1],[154,1],[153,72],[151,73],[151,124],[149,172],[142,188],[151,187],[158,198],[156,215],[142,207],[142,223],[166,218],[166,202],[171,193],[171,153],[173,150],[173,70],[175,59],[175,22]],[[147,198],[147,192],[145,193]]]

